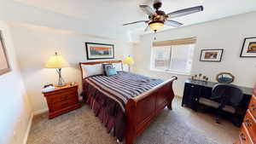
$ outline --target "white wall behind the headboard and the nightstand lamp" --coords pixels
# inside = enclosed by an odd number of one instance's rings
[[[57,83],[55,69],[44,68],[49,56],[54,55],[55,52],[61,54],[71,64],[70,67],[63,68],[63,78],[66,82],[78,82],[80,89],[82,85],[79,62],[86,61],[85,42],[113,43],[115,58],[118,60],[131,55],[131,43],[43,26],[20,24],[10,26],[27,94],[32,100],[33,111],[47,108],[44,96],[40,92],[44,84]]]

